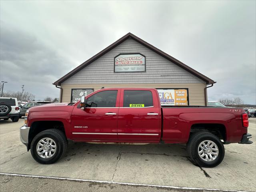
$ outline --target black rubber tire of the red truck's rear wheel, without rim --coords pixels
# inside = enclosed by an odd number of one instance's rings
[[[204,140],[210,140],[218,146],[219,153],[215,160],[207,162],[200,158],[198,154],[198,146]],[[225,155],[224,145],[222,144],[221,140],[214,134],[208,132],[198,132],[190,136],[187,143],[187,150],[192,161],[200,167],[215,167],[222,162]]]

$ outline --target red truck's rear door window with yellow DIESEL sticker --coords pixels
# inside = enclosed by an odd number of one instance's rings
[[[124,90],[124,107],[150,107],[153,106],[151,91]]]

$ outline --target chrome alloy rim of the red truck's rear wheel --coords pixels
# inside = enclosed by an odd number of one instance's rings
[[[204,140],[198,146],[198,155],[204,161],[211,162],[218,157],[219,149],[211,140]]]

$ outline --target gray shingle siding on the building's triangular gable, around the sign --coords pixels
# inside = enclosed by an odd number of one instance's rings
[[[146,72],[114,73],[114,57],[120,53],[146,56]],[[205,83],[190,72],[129,38],[62,82],[62,84]]]

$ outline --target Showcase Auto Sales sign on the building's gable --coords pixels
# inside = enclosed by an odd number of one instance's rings
[[[145,56],[141,54],[120,54],[115,57],[114,72],[144,72]]]

